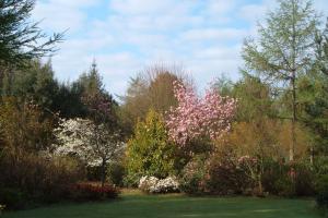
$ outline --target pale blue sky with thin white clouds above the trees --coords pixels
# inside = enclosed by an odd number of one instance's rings
[[[327,0],[314,7],[328,14]],[[241,47],[256,36],[274,0],[38,0],[33,20],[66,33],[52,57],[56,76],[75,80],[93,59],[108,92],[155,63],[178,65],[203,88],[222,73],[236,80]]]

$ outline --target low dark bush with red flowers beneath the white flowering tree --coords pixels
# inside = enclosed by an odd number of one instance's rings
[[[71,187],[71,198],[74,201],[101,201],[116,198],[118,190],[112,185],[93,185],[87,183],[78,183]]]

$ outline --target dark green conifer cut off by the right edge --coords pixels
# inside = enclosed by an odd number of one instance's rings
[[[316,36],[316,61],[297,83],[302,121],[314,135],[314,153],[328,154],[328,22]]]

